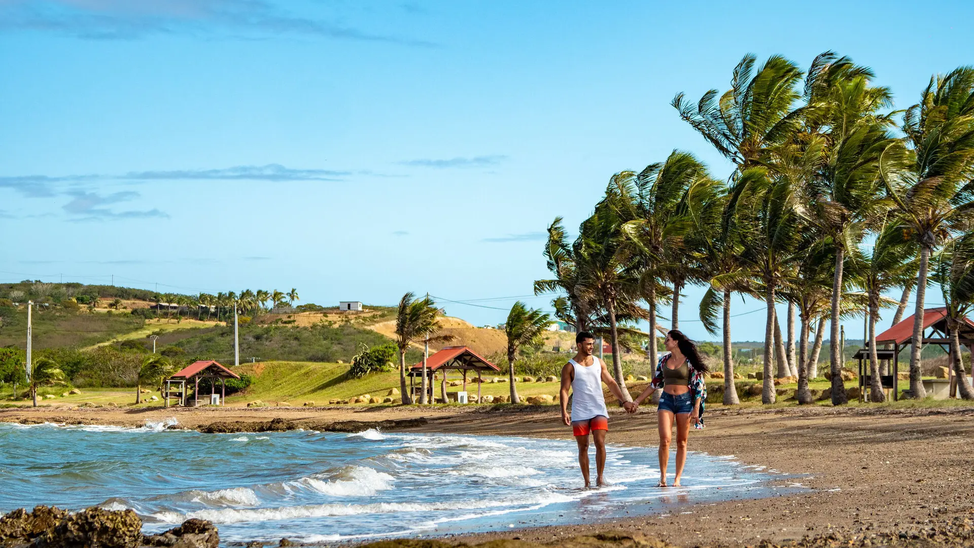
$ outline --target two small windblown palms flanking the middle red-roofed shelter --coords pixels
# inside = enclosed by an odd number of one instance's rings
[[[402,403],[412,404],[412,394],[406,389],[406,351],[413,345],[428,345],[453,340],[453,335],[440,333],[443,329],[439,318],[443,310],[436,306],[430,296],[416,298],[407,293],[399,299],[395,315],[395,345],[399,350],[399,393]],[[510,307],[504,331],[507,337],[507,374],[510,387],[510,403],[520,404],[514,379],[514,360],[521,347],[541,342],[544,330],[551,324],[551,317],[541,310],[528,308],[517,301]],[[427,361],[423,358],[423,379],[421,381],[420,404],[427,404],[429,388],[427,384]],[[446,395],[444,394],[445,398]]]

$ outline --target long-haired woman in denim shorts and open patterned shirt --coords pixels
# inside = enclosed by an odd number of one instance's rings
[[[666,464],[672,440],[673,421],[676,420],[676,477],[673,487],[680,487],[683,466],[687,463],[687,438],[690,425],[703,428],[703,401],[707,398],[707,385],[703,377],[707,372],[696,345],[687,335],[672,330],[666,333],[663,346],[669,354],[659,359],[653,382],[633,403],[638,407],[657,388],[662,388],[656,417],[659,421],[659,485],[666,487]],[[635,411],[634,409],[630,412]]]

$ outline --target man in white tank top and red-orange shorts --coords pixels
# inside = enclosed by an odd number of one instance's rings
[[[575,337],[578,353],[565,364],[561,370],[561,419],[566,426],[572,427],[575,441],[579,444],[579,465],[581,476],[585,479],[585,488],[591,487],[588,479],[588,434],[595,440],[595,467],[598,476],[596,487],[606,485],[603,472],[606,467],[606,432],[609,431],[609,411],[606,410],[605,397],[602,395],[602,383],[609,386],[609,390],[618,401],[623,401],[622,391],[616,379],[609,374],[605,362],[592,355],[595,337],[592,333],[581,332]],[[568,413],[568,391],[572,389],[572,414]],[[634,407],[631,402],[625,402],[622,407],[626,411]]]

